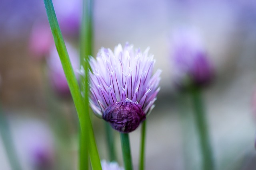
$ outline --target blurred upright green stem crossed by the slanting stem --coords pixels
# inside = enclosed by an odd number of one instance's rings
[[[89,57],[93,54],[93,23],[92,23],[92,0],[83,0],[82,24],[80,29],[80,68],[84,69],[84,75],[80,76],[80,89],[85,106],[85,114],[89,115]],[[80,170],[88,169],[88,140],[87,132],[80,133]]]

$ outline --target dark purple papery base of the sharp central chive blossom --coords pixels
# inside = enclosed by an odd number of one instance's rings
[[[134,131],[140,122],[146,119],[146,114],[139,104],[126,99],[114,103],[106,108],[102,118],[119,132],[129,133]]]

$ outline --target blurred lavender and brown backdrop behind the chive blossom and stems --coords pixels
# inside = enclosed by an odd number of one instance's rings
[[[81,3],[53,0],[75,69],[79,69]],[[78,120],[44,3],[2,0],[0,4],[0,105],[5,117],[1,119],[9,123],[20,163],[24,170],[75,169]],[[183,26],[200,31],[214,66],[214,80],[204,88],[203,98],[217,169],[256,169],[256,2],[95,0],[94,56],[101,47],[114,49],[129,42],[142,51],[150,47],[155,70],[162,70],[156,107],[147,118],[146,169],[184,169],[184,138],[170,56],[172,31]],[[104,122],[92,119],[100,157],[108,160]],[[200,158],[192,123],[187,135],[191,169],[196,170]],[[136,169],[140,128],[130,134],[130,142]],[[116,145],[122,165],[118,134]],[[11,169],[3,139],[0,169]]]

